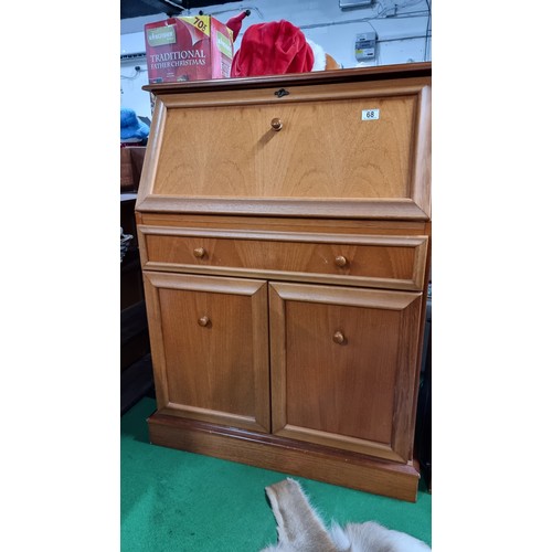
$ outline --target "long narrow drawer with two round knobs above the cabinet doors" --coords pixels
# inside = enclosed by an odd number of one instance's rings
[[[139,226],[142,267],[421,290],[427,236]]]

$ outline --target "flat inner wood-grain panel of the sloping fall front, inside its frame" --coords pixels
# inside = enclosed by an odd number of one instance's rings
[[[406,198],[415,107],[416,96],[173,108],[167,114],[153,192]],[[380,109],[380,119],[361,120],[367,108]],[[275,117],[283,121],[280,131],[270,127]],[[214,136],[204,128],[215,129]]]

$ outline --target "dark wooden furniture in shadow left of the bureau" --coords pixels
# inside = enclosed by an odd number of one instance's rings
[[[120,262],[120,413],[151,392],[153,375],[135,205],[145,147],[120,149],[120,227],[132,238]],[[121,252],[123,254],[123,252]]]

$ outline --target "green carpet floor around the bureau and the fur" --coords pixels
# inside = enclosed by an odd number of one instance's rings
[[[285,474],[149,444],[142,399],[120,418],[121,552],[258,552],[276,544],[264,488]],[[432,497],[416,503],[296,477],[326,522],[379,521],[431,545]]]

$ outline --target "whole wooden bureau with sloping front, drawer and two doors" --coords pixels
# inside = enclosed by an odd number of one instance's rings
[[[145,89],[150,440],[414,501],[431,64]]]

